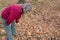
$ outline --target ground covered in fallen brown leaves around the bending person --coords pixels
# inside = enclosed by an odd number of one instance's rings
[[[21,26],[16,26],[18,35],[14,40],[60,40],[60,0],[26,2],[32,5],[32,11],[21,16]],[[4,7],[13,3],[17,3],[17,0],[0,0],[0,13]],[[3,26],[0,22],[0,40],[6,40]]]

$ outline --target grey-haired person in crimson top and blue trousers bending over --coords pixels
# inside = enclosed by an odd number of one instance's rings
[[[8,40],[13,40],[13,36],[16,35],[15,22],[16,25],[20,26],[19,19],[21,15],[24,12],[30,10],[31,6],[25,3],[25,4],[12,4],[2,11],[1,15]]]

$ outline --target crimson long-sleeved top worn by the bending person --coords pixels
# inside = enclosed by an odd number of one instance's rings
[[[19,19],[22,14],[22,6],[19,4],[13,4],[8,6],[2,11],[2,18],[6,20],[7,25],[11,24],[14,20],[16,23],[19,22]]]

